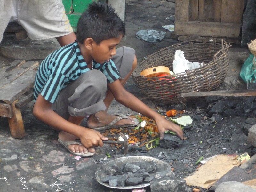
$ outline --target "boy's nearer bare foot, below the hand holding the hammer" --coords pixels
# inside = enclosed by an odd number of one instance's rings
[[[76,139],[79,139],[75,135],[71,135],[67,132],[60,131],[59,132],[59,139],[62,141],[73,141]],[[71,150],[73,153],[87,153],[91,152],[94,153],[95,149],[94,148],[85,148],[83,145],[77,145],[77,144],[72,144],[67,146],[69,150]]]

